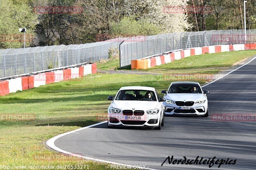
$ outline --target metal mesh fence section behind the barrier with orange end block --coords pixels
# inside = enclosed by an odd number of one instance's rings
[[[211,30],[199,32],[166,33],[146,36],[144,41],[124,41],[120,45],[120,67],[131,60],[184,48],[211,45],[256,43],[256,30]]]

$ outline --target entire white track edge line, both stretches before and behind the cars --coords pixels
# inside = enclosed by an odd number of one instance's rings
[[[221,77],[219,77],[219,78],[217,78],[217,79],[211,81],[210,83],[208,83],[208,84],[206,84],[206,85],[203,85],[202,87],[205,87],[205,86],[207,86],[207,85],[210,85],[210,84],[214,83],[215,81],[218,81],[219,79],[221,79],[221,78],[227,76],[228,74],[230,74],[230,73],[232,73],[232,72],[234,72],[234,71],[240,69],[241,67],[244,67],[245,65],[251,63],[251,62],[252,62],[253,60],[255,60],[255,59],[256,59],[256,56],[255,56],[254,58],[252,58],[250,61],[248,61],[247,63],[245,63],[245,64],[243,64],[243,65],[237,67],[236,69],[234,69],[234,70],[232,70],[232,71],[230,71],[230,72],[224,74],[223,76],[221,76]],[[51,139],[49,139],[49,140],[46,142],[46,145],[49,146],[50,148],[52,148],[53,150],[58,151],[58,152],[62,152],[62,153],[65,153],[65,154],[68,154],[68,155],[72,155],[72,156],[81,157],[81,158],[84,158],[84,159],[90,159],[90,160],[95,160],[95,161],[99,161],[99,162],[105,162],[105,163],[109,163],[109,164],[124,165],[124,166],[132,166],[132,165],[120,164],[120,163],[116,163],[116,162],[111,162],[111,161],[106,161],[106,160],[101,160],[101,159],[94,159],[94,158],[89,158],[89,157],[77,155],[77,154],[74,154],[74,153],[71,153],[71,152],[64,151],[64,150],[58,148],[57,146],[55,146],[55,144],[54,144],[55,140],[57,140],[57,139],[60,138],[60,137],[63,137],[63,136],[68,135],[68,134],[70,134],[70,133],[77,132],[77,131],[80,131],[80,130],[83,130],[83,129],[87,129],[87,128],[90,128],[90,127],[93,127],[93,126],[97,126],[97,125],[100,125],[100,124],[106,123],[106,122],[108,122],[108,121],[96,123],[96,124],[93,124],[93,125],[90,125],[90,126],[86,126],[86,127],[80,128],[80,129],[72,130],[72,131],[70,131],[70,132],[66,132],[66,133],[57,135],[57,136],[52,137]],[[141,169],[155,170],[155,169],[151,169],[151,168],[142,168],[142,167],[141,167]]]

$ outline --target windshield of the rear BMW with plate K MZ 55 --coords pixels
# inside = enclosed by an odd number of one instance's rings
[[[168,93],[202,93],[199,85],[195,84],[176,84],[172,85]]]

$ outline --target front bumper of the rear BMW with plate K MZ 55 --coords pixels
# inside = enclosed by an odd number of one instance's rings
[[[190,109],[180,109],[175,103],[167,104],[164,103],[164,115],[198,115],[203,116],[207,112],[208,103],[207,101],[203,104],[194,104],[193,106],[188,106]]]

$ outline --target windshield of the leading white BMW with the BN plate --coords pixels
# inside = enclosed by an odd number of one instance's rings
[[[121,90],[117,94],[116,100],[156,101],[156,96],[153,91]]]

